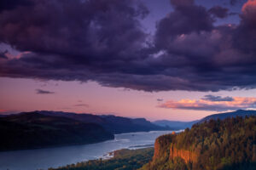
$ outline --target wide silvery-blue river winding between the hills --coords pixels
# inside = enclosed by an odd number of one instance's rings
[[[172,131],[115,134],[113,140],[96,144],[82,144],[37,150],[0,152],[0,170],[37,170],[60,167],[78,161],[104,158],[120,149],[138,149],[154,146],[154,140]]]

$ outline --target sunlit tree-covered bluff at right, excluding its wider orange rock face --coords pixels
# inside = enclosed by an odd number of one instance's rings
[[[142,170],[255,170],[256,116],[195,124],[177,135],[160,137],[160,156]],[[170,157],[170,147],[195,153],[197,161]]]

